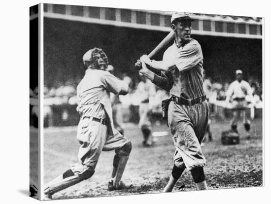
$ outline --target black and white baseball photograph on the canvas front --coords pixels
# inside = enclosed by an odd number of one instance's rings
[[[263,186],[263,17],[38,6],[44,200]]]

